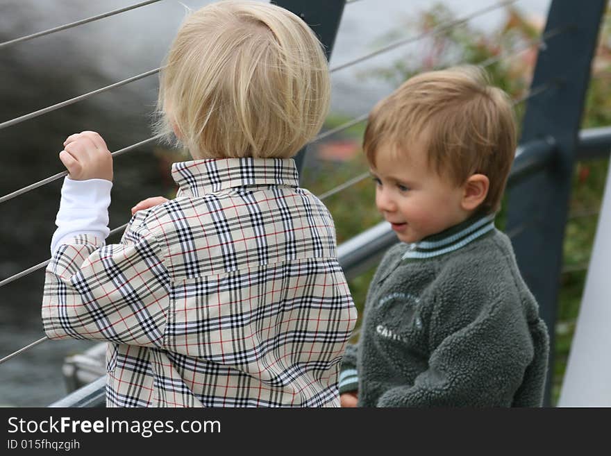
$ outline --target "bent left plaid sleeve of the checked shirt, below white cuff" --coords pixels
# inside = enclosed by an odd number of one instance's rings
[[[99,247],[79,235],[47,266],[42,323],[51,339],[93,339],[160,347],[170,279],[155,237],[140,228],[133,242]]]

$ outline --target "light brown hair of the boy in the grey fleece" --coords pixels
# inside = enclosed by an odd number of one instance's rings
[[[512,103],[489,84],[479,67],[428,71],[405,81],[369,115],[363,149],[375,167],[382,144],[406,153],[424,142],[437,174],[462,185],[473,174],[489,179],[481,207],[499,210],[514,159],[516,127]]]

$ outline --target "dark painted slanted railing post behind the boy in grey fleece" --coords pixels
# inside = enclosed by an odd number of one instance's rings
[[[545,33],[562,31],[539,51],[528,100],[521,144],[551,137],[555,158],[550,167],[508,190],[506,232],[519,268],[539,303],[551,336],[545,405],[551,404],[553,347],[562,244],[567,223],[578,131],[592,56],[606,0],[553,0]]]

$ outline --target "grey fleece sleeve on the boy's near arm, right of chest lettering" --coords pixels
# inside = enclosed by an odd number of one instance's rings
[[[413,385],[394,387],[378,407],[510,406],[533,344],[520,312],[502,302],[442,339]]]

